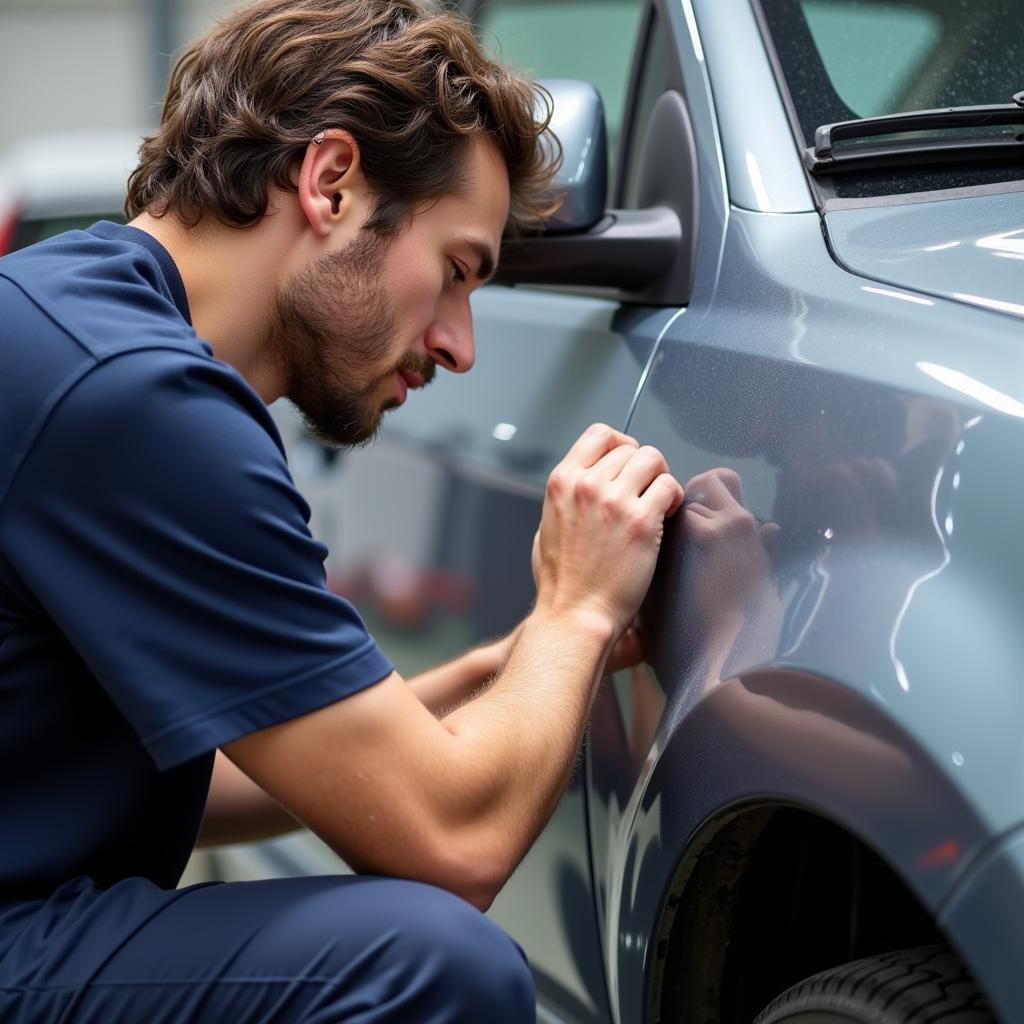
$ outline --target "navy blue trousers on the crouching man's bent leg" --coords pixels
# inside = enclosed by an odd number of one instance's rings
[[[3,1024],[522,1024],[519,947],[465,901],[392,879],[76,880],[0,909]]]

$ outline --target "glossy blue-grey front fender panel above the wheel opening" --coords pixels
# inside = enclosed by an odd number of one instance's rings
[[[634,777],[593,786],[624,807],[594,836],[620,901],[605,941],[622,1020],[675,867],[663,852],[718,809],[824,813],[932,908],[1024,811],[1024,483],[1007,461],[1024,424],[963,388],[993,380],[994,353],[1019,362],[1001,315],[865,292],[814,215],[733,211],[722,266],[663,340],[630,429],[683,477],[737,471],[780,535],[751,581],[669,534],[648,608],[665,711]],[[716,649],[715,618],[736,609],[742,630]],[[601,775],[622,761],[592,736]]]

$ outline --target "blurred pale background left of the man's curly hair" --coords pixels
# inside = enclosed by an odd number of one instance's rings
[[[175,51],[227,0],[0,0],[0,255],[120,219]]]

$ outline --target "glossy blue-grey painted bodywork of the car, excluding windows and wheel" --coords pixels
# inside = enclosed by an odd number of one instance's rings
[[[602,691],[582,769],[492,911],[530,956],[543,1019],[645,1019],[681,868],[765,804],[878,851],[1002,1019],[1024,1019],[1024,367],[1019,323],[957,297],[1012,301],[1018,261],[977,242],[1019,228],[1020,201],[822,225],[746,5],[665,14],[698,141],[690,304],[479,293],[469,381],[411,395],[373,451],[293,458],[332,580],[410,674],[526,610],[544,480],[589,422],[628,423],[684,480],[735,471],[778,524],[771,557],[752,573],[673,524],[650,666]],[[928,251],[940,237],[961,246]],[[980,266],[925,280],[972,247]],[[323,869],[312,849],[280,863]]]

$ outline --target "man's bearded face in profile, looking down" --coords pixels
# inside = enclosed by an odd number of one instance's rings
[[[469,296],[497,261],[509,185],[493,143],[475,141],[467,161],[460,195],[417,211],[394,238],[361,230],[279,293],[268,342],[286,393],[322,439],[367,441],[438,365],[472,367]]]

